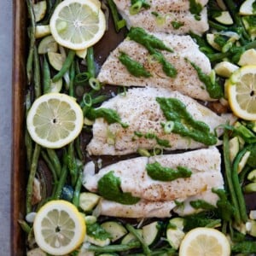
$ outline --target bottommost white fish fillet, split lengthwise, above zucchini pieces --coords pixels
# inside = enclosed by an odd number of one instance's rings
[[[160,181],[151,177],[147,171],[147,166],[156,162],[172,169],[177,169],[178,166],[187,167],[192,174],[190,177],[178,177],[172,181]],[[167,217],[170,216],[171,210],[177,207],[174,201],[186,201],[196,195],[206,201],[209,198],[209,202],[216,205],[218,195],[212,193],[212,188],[223,188],[224,185],[220,172],[220,154],[215,147],[183,154],[122,160],[102,168],[94,175],[84,172],[84,187],[97,193],[98,181],[108,172],[113,172],[115,177],[119,177],[122,192],[140,198],[140,201],[133,205],[102,199],[97,211],[100,209],[102,215],[119,217]],[[189,211],[191,212],[190,209]]]

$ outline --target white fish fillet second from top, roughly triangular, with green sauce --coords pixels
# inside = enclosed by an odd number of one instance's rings
[[[125,39],[113,50],[108,59],[103,63],[100,73],[97,76],[103,84],[117,84],[122,86],[151,86],[178,90],[184,95],[191,96],[203,101],[212,101],[206,85],[198,78],[195,68],[189,61],[201,68],[203,73],[209,74],[212,71],[211,63],[204,55],[198,45],[189,36],[166,35],[164,33],[154,34],[160,38],[172,52],[163,51],[166,60],[172,63],[177,70],[177,76],[171,78],[164,73],[158,61],[153,61],[148,50],[141,44]],[[119,61],[119,52],[125,52],[131,59],[140,62],[151,73],[149,78],[135,77]],[[189,61],[187,61],[188,59]]]

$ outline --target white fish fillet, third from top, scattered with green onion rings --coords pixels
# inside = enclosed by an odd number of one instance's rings
[[[161,123],[165,123],[166,118],[160,109],[160,104],[155,100],[157,96],[177,98],[186,105],[187,111],[194,119],[205,122],[212,132],[218,125],[233,119],[230,114],[218,116],[209,108],[177,91],[133,88],[128,90],[125,96],[115,96],[102,104],[102,108],[117,111],[122,121],[129,126],[123,128],[117,123],[108,125],[104,119],[96,119],[92,128],[93,137],[87,145],[88,153],[91,155],[131,154],[136,153],[139,148],[153,149],[158,145],[154,139],[136,137],[135,132],[142,134],[153,132],[160,139],[168,140],[171,145],[171,148],[166,148],[168,150],[205,147],[204,144],[195,142],[191,138],[182,137],[173,132],[165,133]],[[220,132],[221,130],[219,134]]]

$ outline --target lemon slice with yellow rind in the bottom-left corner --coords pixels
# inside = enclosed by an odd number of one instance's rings
[[[52,255],[66,255],[84,241],[85,222],[72,203],[49,201],[38,211],[33,223],[38,246]]]

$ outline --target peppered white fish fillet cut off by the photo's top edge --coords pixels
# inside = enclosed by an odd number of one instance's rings
[[[196,1],[204,7],[206,0]],[[167,32],[185,34],[195,32],[201,35],[209,28],[207,22],[207,8],[201,10],[200,19],[196,19],[189,11],[189,0],[187,1],[148,1],[149,9],[141,9],[136,15],[130,14],[131,0],[114,0],[119,14],[126,20],[126,26],[142,26],[149,32]],[[172,26],[173,22],[178,22],[182,26]]]

